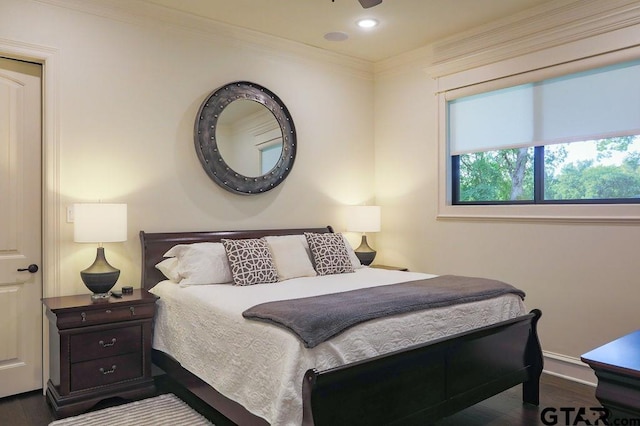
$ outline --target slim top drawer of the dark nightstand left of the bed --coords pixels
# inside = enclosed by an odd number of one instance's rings
[[[111,324],[117,321],[131,319],[153,318],[155,307],[153,305],[136,305],[113,307],[104,309],[86,309],[80,312],[67,312],[57,314],[57,326],[65,328],[82,327],[95,324]]]

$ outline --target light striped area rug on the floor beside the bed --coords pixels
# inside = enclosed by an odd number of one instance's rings
[[[49,423],[49,426],[116,425],[212,426],[212,423],[171,393]]]

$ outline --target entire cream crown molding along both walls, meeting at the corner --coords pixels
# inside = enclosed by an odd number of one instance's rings
[[[440,77],[640,24],[638,0],[557,0],[376,63],[190,15],[144,0],[35,0],[141,26],[171,26],[294,62],[372,80],[407,67]]]

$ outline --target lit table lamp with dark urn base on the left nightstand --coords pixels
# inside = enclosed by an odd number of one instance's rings
[[[80,277],[93,293],[93,300],[108,298],[120,270],[109,265],[102,243],[127,240],[127,205],[81,203],[74,204],[73,210],[73,240],[77,243],[98,243],[96,260],[80,272]]]

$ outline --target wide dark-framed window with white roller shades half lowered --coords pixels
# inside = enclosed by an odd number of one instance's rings
[[[640,61],[447,102],[453,204],[640,203]]]

